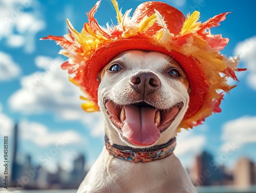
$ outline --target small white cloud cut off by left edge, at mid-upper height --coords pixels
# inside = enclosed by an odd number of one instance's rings
[[[20,68],[9,54],[0,51],[0,81],[11,80],[20,74]]]

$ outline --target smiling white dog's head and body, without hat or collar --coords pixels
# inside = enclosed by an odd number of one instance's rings
[[[189,83],[179,63],[154,51],[117,55],[98,74],[98,104],[110,144],[150,149],[176,137],[189,102]],[[129,162],[106,147],[78,193],[197,192],[174,154]]]

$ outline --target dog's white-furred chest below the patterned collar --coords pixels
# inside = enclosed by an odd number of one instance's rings
[[[194,193],[196,190],[174,155],[153,162],[133,163],[113,158],[104,148],[77,192]]]

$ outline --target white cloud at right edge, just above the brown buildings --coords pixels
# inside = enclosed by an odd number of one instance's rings
[[[255,125],[256,116],[244,116],[226,122],[222,128],[224,144],[221,150],[224,151],[230,145],[239,148],[247,143],[256,143]]]

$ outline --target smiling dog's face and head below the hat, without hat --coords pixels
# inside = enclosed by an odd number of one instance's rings
[[[188,108],[189,85],[174,59],[159,52],[126,51],[98,79],[99,106],[111,125],[106,133],[112,142],[152,146],[175,137]]]

